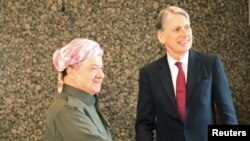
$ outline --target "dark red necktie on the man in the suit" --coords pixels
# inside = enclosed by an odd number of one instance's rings
[[[179,118],[182,122],[185,119],[185,105],[186,105],[186,81],[185,74],[181,66],[181,62],[176,62],[175,65],[179,71],[176,79],[176,102]]]

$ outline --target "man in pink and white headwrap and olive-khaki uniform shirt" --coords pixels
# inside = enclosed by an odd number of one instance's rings
[[[97,106],[104,79],[102,56],[99,44],[84,38],[55,51],[59,94],[46,113],[45,141],[112,141]]]

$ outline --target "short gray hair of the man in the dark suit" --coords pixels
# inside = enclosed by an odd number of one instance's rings
[[[172,15],[172,14],[180,14],[185,16],[188,21],[190,22],[189,14],[182,8],[176,7],[176,6],[169,6],[165,9],[162,9],[160,13],[158,14],[157,20],[156,20],[156,30],[162,31],[165,27],[164,24],[166,22],[166,19]]]

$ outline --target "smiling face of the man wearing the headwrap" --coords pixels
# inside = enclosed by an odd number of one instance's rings
[[[69,75],[76,88],[91,95],[97,94],[104,79],[102,57],[90,57],[73,65]]]

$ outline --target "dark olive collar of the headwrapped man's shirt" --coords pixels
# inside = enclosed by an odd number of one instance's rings
[[[76,97],[80,101],[84,102],[87,105],[94,105],[96,103],[96,98],[93,95],[88,94],[85,91],[77,89],[67,84],[63,84],[63,90],[69,96]]]

